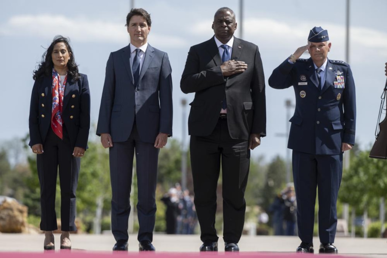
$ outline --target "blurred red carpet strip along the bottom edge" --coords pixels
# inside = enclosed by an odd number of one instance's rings
[[[297,253],[264,253],[264,252],[240,252],[240,253],[173,253],[173,252],[89,252],[82,250],[57,250],[57,251],[45,251],[44,253],[16,253],[16,252],[0,252],[0,258],[193,258],[193,257],[215,257],[215,256],[228,256],[228,257],[243,257],[243,258],[311,258],[313,254],[297,254]],[[356,256],[342,256],[342,255],[319,255],[319,258],[355,258]]]

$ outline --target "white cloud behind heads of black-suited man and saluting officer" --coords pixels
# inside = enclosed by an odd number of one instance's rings
[[[213,33],[211,24],[211,19],[198,22],[196,26],[192,27],[191,32],[198,36],[209,35]],[[243,35],[247,40],[259,44],[260,48],[263,47],[267,50],[286,48],[286,51],[289,51],[289,48],[296,50],[297,46],[307,43],[311,27],[309,22],[281,22],[267,18],[248,18],[243,23]],[[324,28],[328,29],[329,38],[333,45],[332,50],[340,48],[343,51],[345,26],[325,23]],[[235,34],[238,36],[238,28]],[[372,50],[375,51],[376,55],[387,57],[387,45],[385,44],[387,33],[368,27],[352,26],[349,36],[351,52],[363,57],[369,55],[369,51]]]

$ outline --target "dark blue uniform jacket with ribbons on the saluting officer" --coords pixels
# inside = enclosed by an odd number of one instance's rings
[[[329,60],[326,79],[318,89],[312,58],[285,60],[274,69],[269,85],[285,89],[293,85],[296,107],[291,122],[288,148],[308,154],[337,155],[341,144],[354,144],[356,124],[355,84],[351,68]],[[342,81],[343,80],[343,81]]]

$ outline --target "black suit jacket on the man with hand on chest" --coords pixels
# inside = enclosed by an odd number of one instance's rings
[[[190,48],[180,81],[184,93],[195,92],[188,118],[190,135],[212,133],[224,94],[231,138],[248,140],[251,133],[266,135],[265,77],[258,46],[234,37],[231,60],[244,61],[248,67],[242,73],[223,77],[214,37]]]

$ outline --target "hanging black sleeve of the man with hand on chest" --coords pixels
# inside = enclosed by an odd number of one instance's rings
[[[251,93],[254,106],[254,119],[251,133],[258,133],[261,137],[264,137],[266,136],[265,76],[258,46],[255,50],[254,73],[251,85]]]

